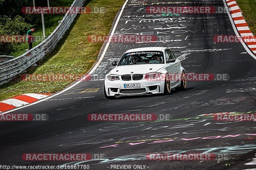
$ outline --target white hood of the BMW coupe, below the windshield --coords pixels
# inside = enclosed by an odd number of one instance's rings
[[[110,71],[110,74],[117,74],[117,75],[147,74],[147,73],[156,72],[157,70],[163,68],[164,66],[165,64],[137,64],[137,65],[117,66]]]

